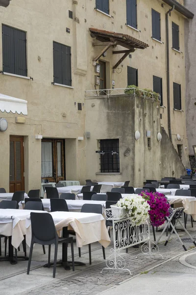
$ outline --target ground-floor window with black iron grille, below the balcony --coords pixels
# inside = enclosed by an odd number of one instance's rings
[[[119,139],[101,139],[100,150],[100,172],[120,172]]]

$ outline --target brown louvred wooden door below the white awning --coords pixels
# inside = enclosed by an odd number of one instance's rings
[[[24,137],[10,136],[9,192],[25,190]]]

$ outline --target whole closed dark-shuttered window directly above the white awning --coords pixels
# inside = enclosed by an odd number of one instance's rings
[[[27,76],[26,33],[2,25],[3,72]]]

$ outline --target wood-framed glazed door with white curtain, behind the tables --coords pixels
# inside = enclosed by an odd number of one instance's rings
[[[65,144],[63,139],[42,140],[42,178],[50,182],[65,179]]]

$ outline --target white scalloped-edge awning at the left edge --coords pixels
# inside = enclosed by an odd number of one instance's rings
[[[0,111],[27,115],[27,101],[0,93]]]

